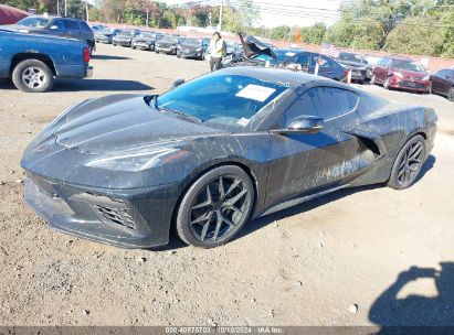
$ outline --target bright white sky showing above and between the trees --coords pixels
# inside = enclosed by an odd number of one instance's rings
[[[198,0],[194,0],[198,1]],[[220,3],[221,0],[210,0],[207,3]],[[237,0],[231,0],[232,2]],[[189,0],[165,0],[168,4],[182,4]],[[277,25],[312,25],[325,22],[331,25],[338,21],[337,9],[340,0],[253,0],[261,15],[257,25],[267,28]],[[201,1],[201,4],[203,1]]]

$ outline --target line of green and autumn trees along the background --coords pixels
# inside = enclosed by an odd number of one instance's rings
[[[63,2],[60,0],[61,13]],[[67,0],[67,3],[70,17],[86,17],[84,1]],[[57,10],[56,0],[6,0],[6,4],[50,14]],[[152,0],[95,0],[88,13],[92,21],[150,28],[215,26],[220,21],[219,6],[202,1],[168,6]],[[453,0],[344,0],[338,13],[340,20],[330,26],[318,22],[304,28],[271,29],[257,25],[256,2],[228,0],[223,7],[222,30],[288,42],[328,42],[350,48],[454,57]]]

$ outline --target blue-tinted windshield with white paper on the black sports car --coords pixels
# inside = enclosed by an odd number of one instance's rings
[[[215,73],[163,94],[157,98],[156,106],[200,122],[241,129],[287,88],[250,76]]]

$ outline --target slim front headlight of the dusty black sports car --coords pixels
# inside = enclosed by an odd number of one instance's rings
[[[167,148],[147,152],[125,153],[115,156],[102,158],[85,164],[89,168],[99,168],[115,171],[139,172],[169,160],[179,149]]]

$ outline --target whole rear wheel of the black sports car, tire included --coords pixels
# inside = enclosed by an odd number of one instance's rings
[[[407,141],[392,165],[388,186],[404,190],[413,185],[421,173],[426,152],[427,147],[422,136],[416,134]]]

